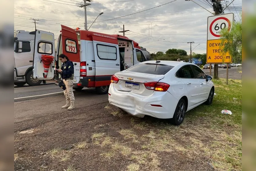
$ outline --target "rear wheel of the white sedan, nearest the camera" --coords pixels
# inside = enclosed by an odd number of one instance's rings
[[[174,115],[173,115],[173,118],[172,118],[172,121],[173,121],[173,124],[174,125],[180,125],[184,118],[185,118],[185,115],[186,115],[186,102],[184,99],[180,99],[177,106],[176,106],[176,109],[175,109],[175,112],[174,112]]]

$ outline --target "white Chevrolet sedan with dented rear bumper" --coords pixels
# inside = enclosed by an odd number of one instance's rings
[[[211,79],[195,64],[145,61],[111,77],[108,101],[130,115],[173,118],[180,125],[186,111],[212,103]]]

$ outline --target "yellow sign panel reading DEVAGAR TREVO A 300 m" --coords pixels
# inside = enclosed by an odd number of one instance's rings
[[[208,40],[207,41],[207,53],[206,53],[206,63],[231,63],[232,57],[229,52],[224,52],[223,48],[227,41],[221,42],[221,39]]]

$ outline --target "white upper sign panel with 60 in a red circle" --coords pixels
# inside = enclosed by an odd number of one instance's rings
[[[222,29],[230,31],[233,18],[233,13],[208,17],[207,40],[220,39]]]

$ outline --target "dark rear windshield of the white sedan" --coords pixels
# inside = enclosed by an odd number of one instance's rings
[[[154,74],[154,75],[164,75],[170,71],[174,66],[164,65],[164,64],[138,64],[134,65],[131,68],[128,68],[126,71],[130,72],[140,72],[145,74]]]

